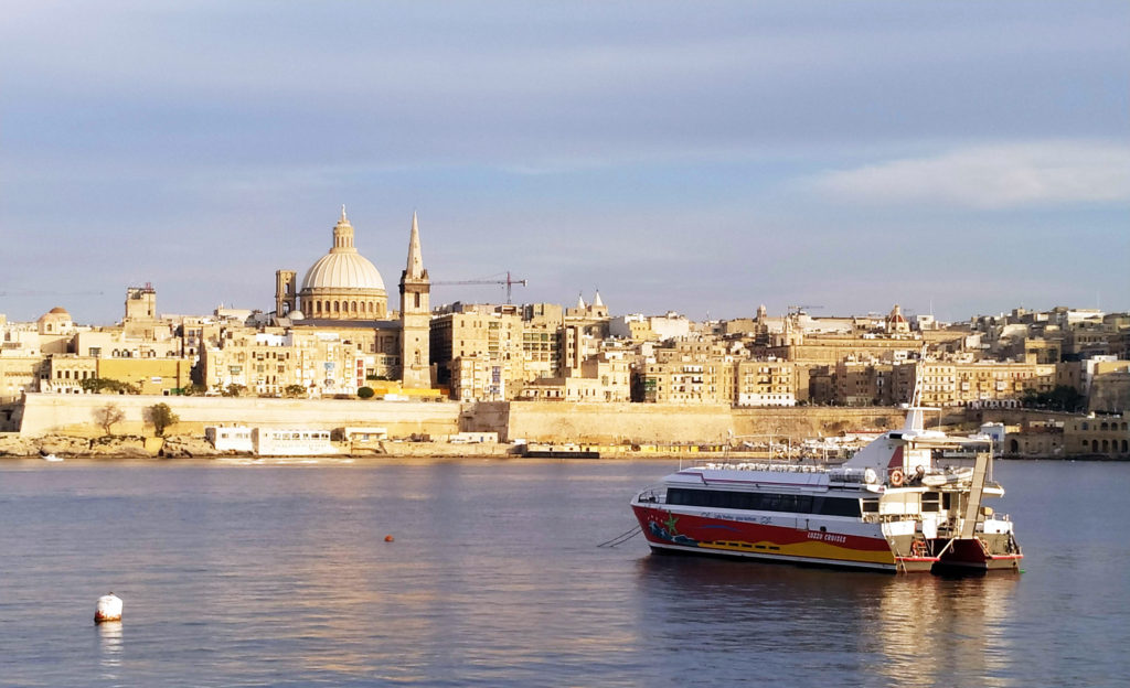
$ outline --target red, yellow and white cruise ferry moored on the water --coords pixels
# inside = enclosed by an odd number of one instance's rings
[[[1007,515],[982,505],[992,480],[984,438],[923,427],[912,406],[889,430],[834,468],[706,464],[645,489],[632,508],[653,552],[729,556],[890,573],[1019,571]],[[973,467],[942,452],[977,451]]]

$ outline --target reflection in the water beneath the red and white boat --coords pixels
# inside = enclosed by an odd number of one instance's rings
[[[645,638],[659,655],[694,648],[713,664],[715,653],[746,652],[783,679],[864,671],[889,685],[1012,685],[1015,575],[890,576],[651,555],[637,577],[641,626],[678,629]]]

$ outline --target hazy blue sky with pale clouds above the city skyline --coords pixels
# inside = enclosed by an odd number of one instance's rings
[[[0,313],[1130,311],[1130,3],[0,0]],[[433,287],[434,305],[505,299]]]

